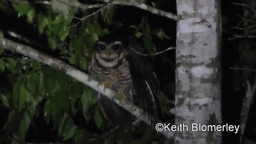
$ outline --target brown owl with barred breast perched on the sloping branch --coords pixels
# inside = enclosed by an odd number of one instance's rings
[[[149,112],[151,124],[158,117],[159,83],[145,48],[133,37],[107,35],[94,44],[89,75],[112,88],[116,99],[127,96],[129,100]],[[122,127],[132,122],[132,115],[113,100],[98,93],[100,108],[114,125]]]

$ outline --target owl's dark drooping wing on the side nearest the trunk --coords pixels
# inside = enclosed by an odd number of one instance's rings
[[[129,70],[132,76],[134,89],[140,101],[140,107],[148,111],[149,114],[158,118],[158,100],[159,82],[154,73],[152,63],[147,56],[141,56],[136,52],[145,54],[146,50],[135,38],[129,37],[127,40],[128,52],[126,60],[129,63]],[[131,48],[133,50],[131,50]],[[134,50],[136,52],[134,52]],[[154,118],[148,118],[151,124],[154,124]]]

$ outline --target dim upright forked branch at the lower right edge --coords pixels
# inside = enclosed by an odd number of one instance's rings
[[[246,95],[245,95],[244,100],[243,100],[241,117],[240,117],[240,120],[241,120],[241,124],[240,124],[241,125],[241,127],[240,127],[240,130],[241,130],[240,143],[242,142],[242,138],[244,136],[244,129],[245,129],[245,126],[246,126],[246,122],[247,122],[247,119],[248,119],[248,114],[249,114],[251,102],[252,102],[254,92],[255,92],[255,89],[256,89],[255,84],[252,86],[248,80],[246,81],[246,83],[247,83],[247,90],[246,90]]]

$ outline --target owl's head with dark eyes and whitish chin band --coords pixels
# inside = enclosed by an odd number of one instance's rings
[[[98,41],[94,44],[94,58],[107,68],[113,68],[124,59],[126,49],[120,40]]]

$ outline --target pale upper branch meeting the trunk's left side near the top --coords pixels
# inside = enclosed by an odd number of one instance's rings
[[[95,0],[95,1],[110,2],[112,0]],[[140,8],[142,10],[147,10],[148,12],[151,12],[152,14],[157,14],[159,16],[164,16],[164,17],[170,18],[172,20],[177,20],[177,16],[175,14],[172,14],[171,12],[166,12],[164,10],[159,10],[158,8],[154,8],[153,6],[141,4],[138,0],[113,0],[112,4],[134,6],[134,7]]]

